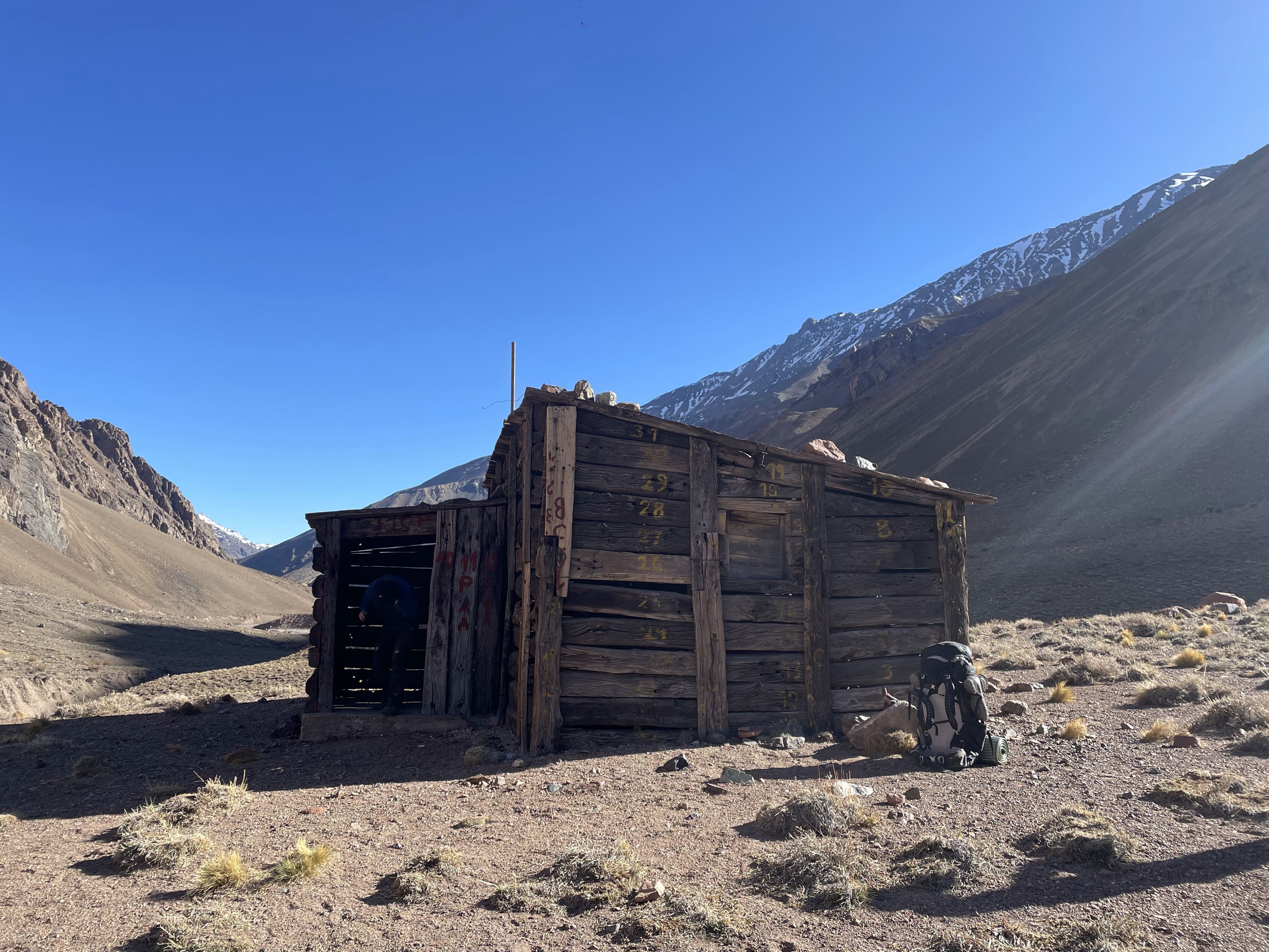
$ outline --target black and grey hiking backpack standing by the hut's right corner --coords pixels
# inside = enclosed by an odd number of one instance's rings
[[[956,770],[1008,759],[1005,739],[987,732],[986,678],[975,671],[968,645],[940,641],[925,649],[911,682],[921,725],[914,751],[919,763]]]

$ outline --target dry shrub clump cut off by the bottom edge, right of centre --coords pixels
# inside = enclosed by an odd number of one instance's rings
[[[1141,952],[1151,948],[1150,932],[1133,919],[1107,916],[1076,922],[1053,919],[1036,925],[1001,922],[943,932],[926,946],[926,952]]]

